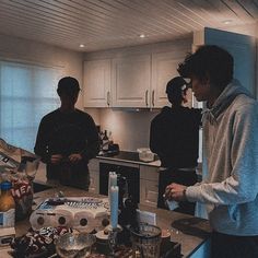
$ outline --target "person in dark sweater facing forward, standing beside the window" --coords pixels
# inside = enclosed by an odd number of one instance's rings
[[[79,92],[74,78],[58,82],[61,106],[43,117],[34,151],[47,164],[48,180],[87,190],[87,163],[98,153],[98,134],[93,118],[74,107]]]

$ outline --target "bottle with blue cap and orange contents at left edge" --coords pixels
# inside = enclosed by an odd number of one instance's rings
[[[1,183],[0,196],[0,227],[12,227],[15,221],[15,201],[12,197],[12,184]]]

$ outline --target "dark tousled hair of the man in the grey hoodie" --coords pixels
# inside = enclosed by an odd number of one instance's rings
[[[225,49],[204,45],[194,54],[188,54],[177,71],[183,78],[197,77],[200,81],[207,75],[210,82],[223,90],[233,79],[234,59]]]

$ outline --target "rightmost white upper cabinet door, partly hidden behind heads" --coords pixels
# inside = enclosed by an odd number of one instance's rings
[[[152,107],[171,106],[166,95],[166,84],[178,77],[177,67],[185,58],[186,49],[153,54],[152,56]]]

